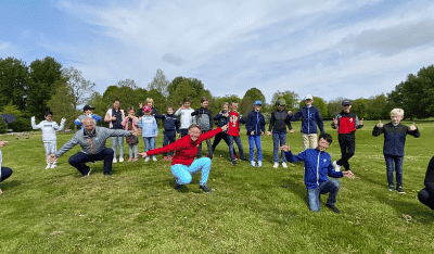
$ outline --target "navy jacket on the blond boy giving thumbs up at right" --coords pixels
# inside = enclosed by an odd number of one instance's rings
[[[392,123],[383,125],[382,128],[373,127],[372,136],[378,137],[384,134],[383,153],[387,155],[404,156],[404,144],[406,144],[406,136],[411,135],[414,138],[420,137],[419,129],[413,131],[408,126],[398,124],[394,126]]]

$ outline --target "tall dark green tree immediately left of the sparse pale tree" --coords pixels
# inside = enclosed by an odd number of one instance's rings
[[[62,64],[53,58],[35,60],[30,64],[30,82],[28,84],[27,110],[37,118],[43,118],[47,102],[55,93],[55,81],[62,78]]]

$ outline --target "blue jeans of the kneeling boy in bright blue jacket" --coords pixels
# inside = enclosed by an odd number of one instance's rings
[[[341,182],[332,178],[328,181],[322,182],[316,189],[307,189],[307,204],[311,212],[319,212],[321,209],[321,198],[320,194],[329,192],[329,199],[327,204],[334,205],[336,203],[336,195],[340,190]]]

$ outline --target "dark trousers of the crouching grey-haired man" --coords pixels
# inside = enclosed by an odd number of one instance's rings
[[[104,148],[100,153],[97,154],[78,152],[69,157],[68,163],[71,166],[77,168],[81,175],[86,176],[90,170],[86,163],[104,161],[104,175],[106,175],[112,170],[113,154],[113,149],[110,148]]]

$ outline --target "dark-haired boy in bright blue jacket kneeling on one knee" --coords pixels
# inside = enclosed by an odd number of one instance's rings
[[[335,178],[346,176],[354,179],[350,170],[335,172],[332,165],[331,156],[324,152],[332,143],[333,139],[328,134],[321,134],[318,138],[318,147],[316,149],[306,149],[298,155],[293,155],[290,145],[282,145],[280,149],[284,151],[286,160],[293,162],[305,163],[305,185],[307,189],[307,203],[310,211],[319,212],[321,208],[320,194],[329,192],[327,207],[334,213],[340,214],[341,211],[334,206],[336,195],[341,187],[341,182]],[[333,177],[329,179],[327,176]]]

